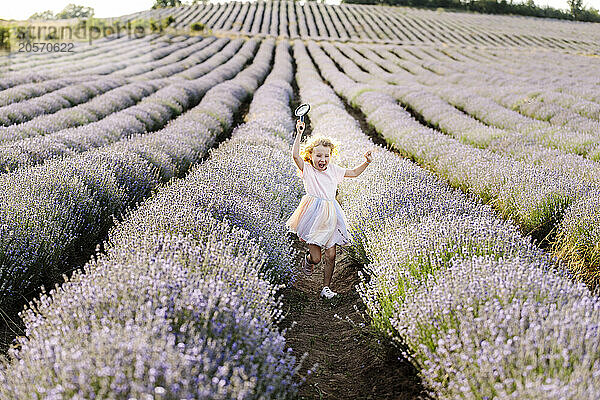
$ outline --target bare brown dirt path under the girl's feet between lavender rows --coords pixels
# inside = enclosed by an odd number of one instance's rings
[[[296,244],[304,248],[300,242]],[[310,277],[298,269],[296,284],[282,291],[287,315],[280,326],[297,322],[286,334],[287,343],[298,358],[308,352],[300,375],[306,376],[308,368],[319,364],[316,372],[308,375],[299,398],[424,399],[415,369],[361,316],[365,306],[354,288],[360,267],[338,246],[331,283],[338,299],[319,297],[322,262]],[[356,324],[347,322],[346,317]]]

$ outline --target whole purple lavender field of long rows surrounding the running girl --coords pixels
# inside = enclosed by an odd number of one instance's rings
[[[600,398],[596,24],[287,1],[110,21],[168,16],[0,58],[1,399],[341,398],[281,328],[300,103],[336,164],[374,149],[339,188],[351,291],[419,398]]]

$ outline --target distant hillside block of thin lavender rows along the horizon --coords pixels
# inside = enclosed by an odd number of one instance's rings
[[[485,17],[455,13],[419,12],[410,8],[369,5],[325,5],[289,1],[208,3],[170,10],[149,10],[121,17],[175,19],[173,27],[189,28],[200,22],[213,31],[240,32],[313,40],[366,41],[372,43],[446,43],[467,46],[534,46],[560,49],[594,49],[595,37],[589,24],[576,31],[589,35],[565,35],[564,23],[542,23],[544,29],[523,29],[510,17],[495,17],[494,24],[481,23]],[[540,25],[535,22],[532,25]],[[572,28],[572,27],[571,27]],[[545,34],[540,34],[544,32]],[[547,33],[546,33],[547,32]],[[548,36],[546,36],[548,35]],[[592,36],[590,36],[592,35]],[[566,38],[565,38],[566,36]],[[596,48],[597,50],[597,48]]]

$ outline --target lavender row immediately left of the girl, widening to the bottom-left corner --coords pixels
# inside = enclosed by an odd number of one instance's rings
[[[265,279],[291,277],[284,218],[302,189],[289,162],[291,77],[280,43],[250,122],[116,226],[85,274],[26,310],[2,398],[295,397],[301,363],[274,328],[279,286]],[[239,95],[247,78],[215,89]]]

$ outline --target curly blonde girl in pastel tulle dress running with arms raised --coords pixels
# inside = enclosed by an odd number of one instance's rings
[[[326,137],[313,137],[300,156],[302,132],[304,122],[298,120],[292,157],[300,170],[298,174],[304,181],[306,194],[285,225],[308,244],[308,252],[302,258],[302,269],[307,275],[312,274],[314,266],[321,261],[321,247],[325,249],[321,297],[331,299],[337,295],[329,288],[335,264],[335,245],[343,246],[352,241],[344,212],[335,200],[335,192],[344,177],[359,176],[372,161],[372,155],[369,150],[365,153],[367,160],[364,163],[354,169],[344,169],[330,163],[330,157],[337,154],[335,144]]]

